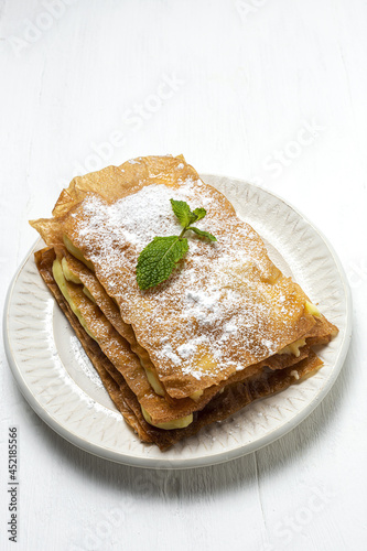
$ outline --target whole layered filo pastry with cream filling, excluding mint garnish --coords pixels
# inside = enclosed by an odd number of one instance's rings
[[[172,201],[205,218],[171,276],[142,289],[141,251],[181,234]],[[37,269],[107,392],[161,450],[313,375],[313,346],[337,333],[182,155],[75,177],[52,218],[31,225],[47,245]]]

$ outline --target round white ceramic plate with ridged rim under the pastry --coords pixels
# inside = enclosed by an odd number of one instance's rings
[[[142,444],[105,391],[33,260],[39,240],[10,285],[4,344],[10,367],[35,412],[73,444],[108,460],[152,468],[211,465],[253,452],[305,419],[334,383],[350,341],[350,298],[344,270],[325,239],[271,193],[239,180],[203,175],[263,238],[270,257],[294,277],[339,333],[310,379],[257,401],[162,453]]]

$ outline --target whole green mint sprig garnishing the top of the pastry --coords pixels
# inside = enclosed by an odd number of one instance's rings
[[[216,241],[216,238],[208,231],[192,226],[195,222],[204,218],[205,208],[191,210],[187,203],[175,199],[171,199],[171,205],[183,229],[179,236],[154,237],[140,252],[137,264],[137,281],[142,290],[162,283],[171,276],[176,263],[184,258],[188,250],[188,241],[184,237],[187,230],[191,229],[209,241]]]

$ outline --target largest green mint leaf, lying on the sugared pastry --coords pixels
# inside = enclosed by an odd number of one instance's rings
[[[137,281],[140,289],[149,289],[165,281],[187,250],[186,238],[154,237],[138,258]]]

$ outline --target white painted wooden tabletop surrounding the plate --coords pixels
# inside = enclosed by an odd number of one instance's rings
[[[0,0],[2,304],[36,238],[26,220],[48,216],[74,175],[183,153],[319,226],[355,315],[342,375],[306,421],[255,454],[186,472],[75,449],[33,413],[2,353],[1,549],[366,549],[366,23],[361,0]],[[6,532],[10,425],[17,544]]]

